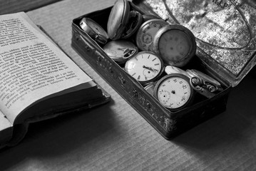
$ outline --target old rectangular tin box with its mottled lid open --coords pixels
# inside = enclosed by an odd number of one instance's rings
[[[79,27],[79,21],[88,17],[106,29],[112,6],[73,19],[71,46],[168,140],[225,111],[230,90],[255,66],[254,4],[225,0],[138,0],[129,3],[132,10],[158,15],[170,24],[178,23],[190,28],[198,45],[193,68],[217,79],[224,90],[213,98],[202,98],[177,112],[164,108]],[[199,21],[198,17],[201,17]],[[230,33],[234,31],[233,27],[236,32]]]

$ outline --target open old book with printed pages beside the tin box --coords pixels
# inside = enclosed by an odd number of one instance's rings
[[[24,12],[0,16],[0,147],[19,142],[29,123],[109,100]]]

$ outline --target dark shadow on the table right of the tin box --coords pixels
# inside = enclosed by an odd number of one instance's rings
[[[174,138],[172,142],[195,152],[248,147],[256,138],[256,79],[247,76],[233,88],[227,110],[201,125]]]

